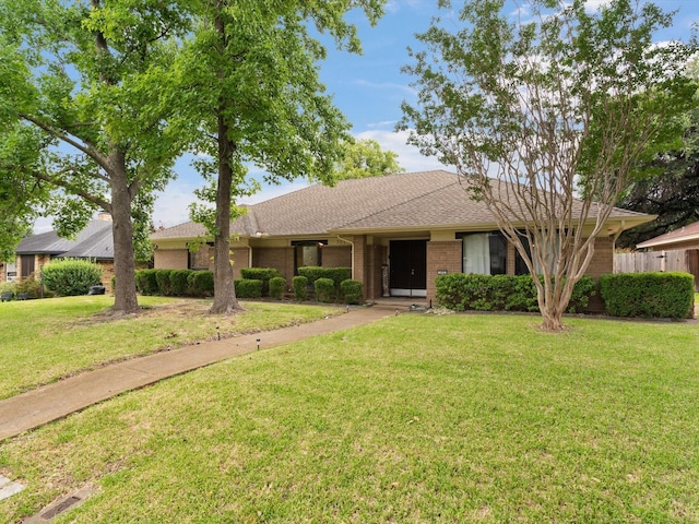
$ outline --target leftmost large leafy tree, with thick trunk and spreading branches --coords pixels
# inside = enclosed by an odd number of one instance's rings
[[[3,162],[2,176],[57,189],[62,234],[111,214],[115,313],[138,311],[132,214],[152,205],[183,142],[166,86],[188,22],[153,0],[0,2],[0,141],[23,136],[38,155]]]

